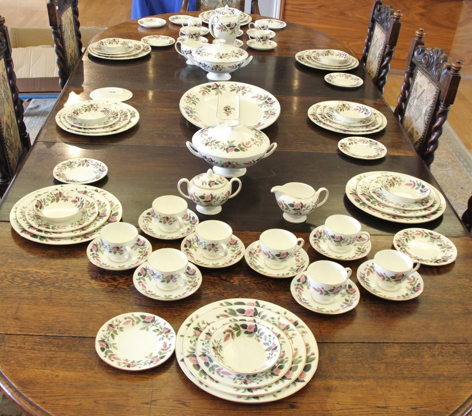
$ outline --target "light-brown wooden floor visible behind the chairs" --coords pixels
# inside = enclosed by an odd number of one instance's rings
[[[5,17],[7,26],[18,28],[49,27],[46,0],[20,1],[22,13],[18,13],[18,1],[0,0],[0,15]],[[83,26],[112,26],[130,19],[131,0],[80,0],[79,11],[79,20]],[[470,20],[461,22],[458,30],[463,33],[472,31],[472,22]],[[458,41],[461,41],[461,39],[459,37]],[[465,42],[467,39],[467,37],[464,37],[462,41]],[[396,105],[396,99],[398,98],[402,82],[402,75],[388,75],[384,96],[391,106]],[[448,121],[462,139],[464,145],[472,152],[471,108],[472,79],[462,79],[455,104],[449,113]]]

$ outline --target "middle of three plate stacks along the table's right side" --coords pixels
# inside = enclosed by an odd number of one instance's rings
[[[321,101],[308,109],[317,126],[337,133],[364,136],[387,126],[387,118],[375,108],[351,101]]]

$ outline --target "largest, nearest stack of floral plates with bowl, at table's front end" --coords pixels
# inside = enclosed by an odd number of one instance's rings
[[[270,334],[277,336],[274,363],[267,352],[256,354],[259,349],[250,345],[251,334],[267,340]],[[256,299],[226,299],[203,306],[185,319],[176,339],[177,360],[185,375],[202,390],[239,403],[284,399],[308,383],[318,366],[318,346],[308,326],[289,310]],[[225,343],[240,344],[238,353],[227,352]],[[237,373],[251,369],[240,359],[244,351],[255,367],[267,368]]]

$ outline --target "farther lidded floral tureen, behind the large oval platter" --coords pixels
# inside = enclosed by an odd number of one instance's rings
[[[188,55],[194,65],[207,71],[207,78],[213,81],[227,81],[230,72],[251,62],[252,56],[241,48],[227,45],[223,39],[216,39],[211,45],[203,45]]]

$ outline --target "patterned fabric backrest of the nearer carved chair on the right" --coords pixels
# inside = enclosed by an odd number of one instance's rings
[[[417,68],[405,107],[402,124],[412,139],[416,150],[421,147],[422,138],[430,121],[438,98],[439,88],[427,73]]]

